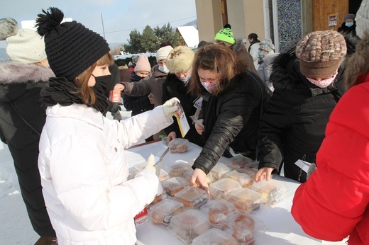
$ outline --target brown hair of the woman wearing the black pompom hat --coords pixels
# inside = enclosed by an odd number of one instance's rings
[[[84,70],[84,72],[79,74],[73,80],[75,82],[75,84],[77,85],[77,87],[79,88],[79,91],[78,91],[79,92],[79,98],[81,98],[83,103],[85,103],[88,106],[91,106],[96,101],[95,93],[92,90],[92,88],[89,87],[89,78],[92,75],[92,72],[94,71],[95,67],[96,66],[101,66],[101,65],[104,65],[104,64],[111,65],[113,63],[114,63],[114,59],[111,56],[111,54],[108,52],[108,53],[106,53],[106,55],[101,57],[97,62],[92,64],[91,67]]]

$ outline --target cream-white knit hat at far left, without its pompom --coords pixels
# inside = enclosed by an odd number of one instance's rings
[[[6,42],[6,53],[13,61],[31,64],[46,59],[45,42],[35,30],[20,29]]]

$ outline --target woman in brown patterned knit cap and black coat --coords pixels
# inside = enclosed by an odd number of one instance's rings
[[[307,173],[294,163],[315,162],[329,115],[344,92],[340,65],[346,50],[340,33],[316,31],[275,58],[270,75],[275,90],[258,130],[256,181],[269,180],[282,163],[285,177],[306,181]]]

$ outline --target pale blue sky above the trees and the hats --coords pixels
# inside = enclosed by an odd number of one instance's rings
[[[142,33],[146,25],[161,27],[169,22],[176,27],[196,19],[195,0],[4,0],[0,18],[15,18],[21,28],[21,21],[35,19],[50,6],[102,36],[105,33],[109,43],[126,43],[135,28]],[[0,41],[0,47],[6,47],[6,42]]]

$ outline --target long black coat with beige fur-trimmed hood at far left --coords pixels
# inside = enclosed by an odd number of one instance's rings
[[[41,190],[38,142],[45,124],[40,90],[54,76],[49,69],[21,62],[0,62],[0,138],[8,145],[28,217],[41,237],[55,237]]]

